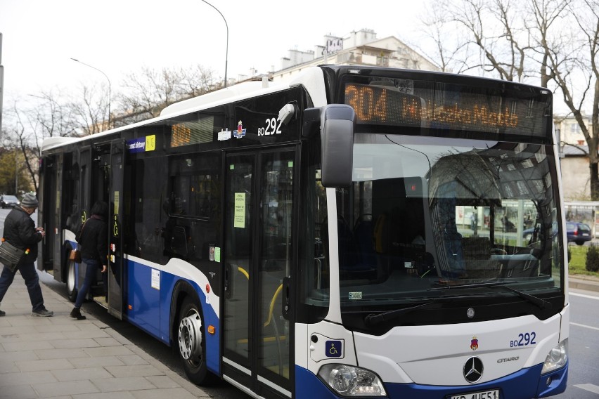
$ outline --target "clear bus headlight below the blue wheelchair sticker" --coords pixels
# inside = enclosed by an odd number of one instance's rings
[[[328,386],[344,396],[387,396],[378,375],[360,367],[330,364],[318,370]]]

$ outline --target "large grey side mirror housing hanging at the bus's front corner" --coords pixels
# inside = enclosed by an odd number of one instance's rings
[[[322,184],[343,188],[352,184],[356,112],[349,105],[330,104],[321,112]]]

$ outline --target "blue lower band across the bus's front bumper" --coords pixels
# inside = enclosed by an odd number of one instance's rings
[[[566,390],[568,364],[562,369],[541,374],[543,365],[536,365],[506,377],[484,384],[465,386],[432,386],[420,384],[385,384],[388,398],[444,399],[446,395],[457,395],[477,391],[500,389],[501,398],[544,398]],[[550,378],[550,380],[548,380]],[[547,385],[547,381],[550,384]],[[295,367],[295,392],[302,398],[341,398],[326,386],[321,379],[303,367]]]

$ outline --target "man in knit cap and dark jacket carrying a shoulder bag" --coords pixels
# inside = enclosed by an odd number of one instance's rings
[[[35,195],[25,194],[20,207],[14,207],[11,213],[4,220],[4,239],[15,247],[25,251],[14,271],[6,266],[0,275],[0,302],[4,299],[4,294],[8,287],[13,283],[17,270],[25,280],[27,292],[32,306],[32,316],[48,317],[54,313],[44,307],[44,298],[41,296],[41,287],[39,287],[39,277],[35,270],[34,261],[37,259],[37,243],[44,239],[46,233],[43,228],[35,228],[35,223],[31,215],[39,205]],[[0,316],[6,312],[0,310]]]

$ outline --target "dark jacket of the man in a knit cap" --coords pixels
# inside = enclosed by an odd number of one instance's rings
[[[20,249],[29,249],[29,254],[21,258],[20,264],[33,263],[37,260],[37,243],[42,240],[35,231],[35,222],[30,214],[21,207],[15,207],[4,220],[4,238]]]

